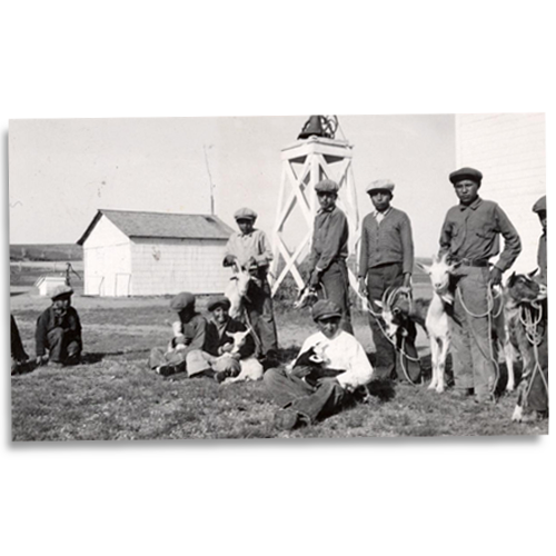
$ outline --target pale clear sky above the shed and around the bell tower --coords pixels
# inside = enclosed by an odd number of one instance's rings
[[[271,235],[280,151],[309,112],[20,112],[9,120],[10,244],[77,241],[97,209],[216,214],[235,227],[244,206]],[[455,203],[454,112],[338,112],[354,146],[359,215],[366,186],[396,183],[393,205],[413,221],[417,256],[437,250]],[[294,224],[292,227],[297,225]],[[296,230],[294,230],[297,232]]]

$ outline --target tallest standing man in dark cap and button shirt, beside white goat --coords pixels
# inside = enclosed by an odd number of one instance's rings
[[[496,354],[490,337],[492,286],[502,282],[522,251],[519,236],[504,210],[479,197],[483,173],[461,168],[449,176],[459,205],[446,215],[440,234],[439,256],[458,266],[456,295],[450,315],[455,388],[453,394],[473,394],[479,404],[494,398]],[[493,257],[504,250],[495,266]]]

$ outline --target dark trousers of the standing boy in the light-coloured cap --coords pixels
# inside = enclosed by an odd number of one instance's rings
[[[381,301],[384,292],[390,287],[400,287],[404,285],[404,272],[401,264],[394,262],[367,270],[367,295],[371,301],[371,309],[375,314],[380,314],[381,309],[375,301]],[[418,360],[415,338],[417,329],[414,322],[408,325],[407,336],[391,338],[397,345],[396,350],[393,341],[384,334],[386,325],[380,317],[369,315],[369,325],[373,332],[373,341],[376,348],[375,374],[376,378],[391,378],[394,371],[399,380],[405,381],[408,378],[416,383],[420,376],[420,363]],[[406,357],[406,355],[409,357]]]

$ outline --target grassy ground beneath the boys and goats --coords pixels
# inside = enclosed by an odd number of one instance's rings
[[[26,349],[34,356],[34,322],[49,306],[29,278],[12,285],[10,309]],[[426,385],[377,389],[367,404],[356,405],[325,421],[291,433],[272,429],[276,407],[261,383],[220,386],[207,378],[162,378],[146,360],[153,346],[165,346],[169,334],[169,297],[92,298],[73,305],[83,324],[85,363],[72,368],[41,367],[11,378],[12,440],[129,440],[181,438],[329,438],[548,435],[547,421],[510,421],[515,395],[495,406],[477,406],[437,395]],[[200,299],[202,310],[206,300]],[[284,361],[295,357],[314,330],[307,314],[280,302],[276,307]],[[374,350],[366,315],[355,311],[355,330],[366,350]],[[430,367],[426,337],[419,353]],[[504,377],[502,384],[504,383]]]

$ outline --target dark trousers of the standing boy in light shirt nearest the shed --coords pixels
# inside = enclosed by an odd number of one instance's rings
[[[256,351],[256,356],[260,358],[267,356],[269,351],[276,353],[278,350],[272,296],[266,276],[257,281],[251,281],[247,295],[249,299],[246,300],[245,308],[249,324],[260,340]]]

